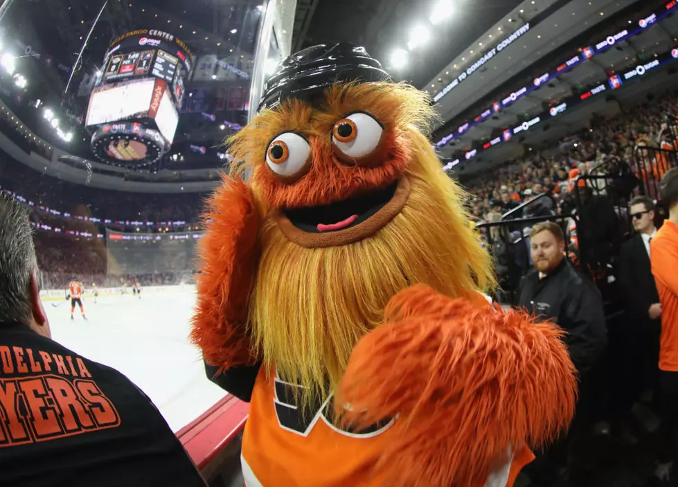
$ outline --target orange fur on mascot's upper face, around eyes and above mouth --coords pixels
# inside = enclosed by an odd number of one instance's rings
[[[341,163],[332,151],[332,127],[341,118],[367,110],[386,131],[383,159],[377,168]],[[433,112],[420,91],[407,85],[366,83],[339,85],[325,94],[323,106],[313,109],[289,100],[263,112],[235,134],[229,151],[236,160],[253,166],[252,184],[274,209],[328,204],[391,184],[404,172],[412,156],[408,125],[425,125]],[[312,168],[296,184],[285,184],[266,164],[266,150],[280,132],[301,134],[310,142]]]

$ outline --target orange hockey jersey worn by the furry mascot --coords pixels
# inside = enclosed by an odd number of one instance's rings
[[[242,438],[242,473],[247,487],[380,487],[373,475],[384,445],[397,434],[395,420],[362,432],[332,423],[332,396],[302,415],[294,406],[294,384],[260,369]],[[492,472],[484,486],[511,487],[519,470],[534,459],[528,448]],[[435,487],[435,486],[432,486]]]

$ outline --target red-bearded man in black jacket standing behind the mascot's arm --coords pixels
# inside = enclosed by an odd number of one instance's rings
[[[526,472],[540,487],[569,486],[569,459],[585,423],[590,371],[607,344],[603,300],[598,288],[564,258],[564,236],[557,224],[532,227],[530,252],[535,269],[521,282],[518,304],[565,331],[563,341],[579,373],[580,399],[567,438],[537,457]]]

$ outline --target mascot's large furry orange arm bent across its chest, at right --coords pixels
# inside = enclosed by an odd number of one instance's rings
[[[377,466],[387,485],[483,486],[509,448],[569,425],[576,380],[556,326],[425,285],[394,296],[385,318],[355,347],[336,403],[359,427],[398,416]]]

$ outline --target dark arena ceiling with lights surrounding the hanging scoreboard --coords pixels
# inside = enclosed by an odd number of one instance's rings
[[[1,96],[39,137],[91,158],[82,115],[107,49],[132,30],[161,30],[189,46],[195,69],[172,150],[154,169],[224,164],[217,147],[247,121],[262,1],[7,0],[1,8],[0,54],[12,68],[3,71]]]

